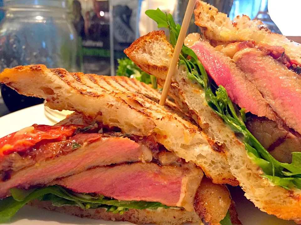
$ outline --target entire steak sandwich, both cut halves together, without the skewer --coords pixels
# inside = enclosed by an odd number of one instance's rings
[[[125,50],[163,86],[181,26]],[[0,139],[0,222],[30,204],[137,224],[240,224],[225,184],[256,207],[301,222],[301,47],[198,1],[202,35],[185,39],[169,95],[132,78],[5,69],[0,82],[75,113]]]

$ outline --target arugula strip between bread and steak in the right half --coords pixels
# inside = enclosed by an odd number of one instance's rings
[[[158,28],[166,27],[170,32],[170,43],[175,47],[181,26],[175,24],[172,15],[162,12],[159,8],[156,10],[147,10],[147,16],[155,20]],[[188,59],[188,56],[190,59]],[[224,122],[228,124],[235,133],[243,136],[243,143],[246,146],[249,157],[265,173],[261,175],[277,186],[286,189],[301,189],[301,152],[292,153],[292,163],[281,163],[256,140],[256,138],[246,128],[245,109],[238,109],[238,106],[232,103],[228,97],[227,91],[223,86],[218,88],[210,83],[203,65],[198,60],[197,55],[185,45],[179,57],[179,66],[185,66],[187,76],[197,81],[205,91],[208,105],[214,110]]]

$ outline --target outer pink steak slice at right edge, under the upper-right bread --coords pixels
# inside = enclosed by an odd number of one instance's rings
[[[301,133],[300,76],[255,48],[238,51],[233,60],[285,124]]]

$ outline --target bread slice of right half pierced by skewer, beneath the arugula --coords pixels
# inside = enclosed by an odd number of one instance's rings
[[[124,52],[143,71],[156,76],[161,85],[164,83],[173,48],[163,31],[153,31],[138,38]],[[177,68],[172,77],[170,95],[214,142],[225,147],[232,174],[256,207],[282,219],[301,219],[301,191],[274,186],[260,177],[263,174],[261,168],[248,157],[244,144],[233,131],[208,106],[203,89],[187,77],[183,66]]]

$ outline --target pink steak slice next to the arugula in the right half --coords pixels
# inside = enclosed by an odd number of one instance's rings
[[[190,48],[215,83],[224,86],[233,102],[241,108],[246,108],[247,112],[274,120],[275,114],[267,101],[231,58],[203,41],[195,42]]]

